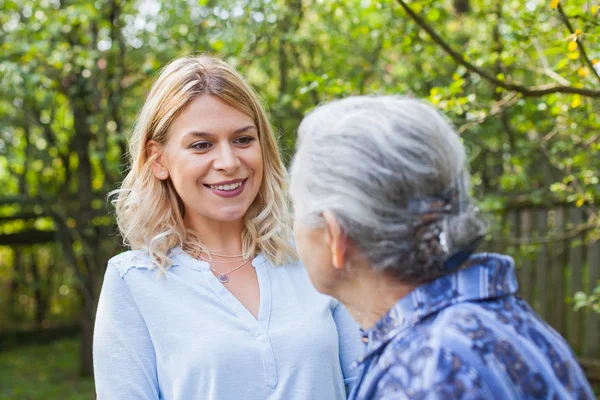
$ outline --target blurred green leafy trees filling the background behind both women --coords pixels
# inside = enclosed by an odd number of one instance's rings
[[[220,55],[248,77],[286,160],[320,102],[427,98],[469,147],[482,207],[573,204],[586,214],[567,235],[600,236],[597,0],[0,5],[0,244],[60,244],[66,267],[51,273],[77,278],[85,373],[102,274],[118,251],[106,195],[153,76],[182,54]],[[11,276],[18,265],[11,258]]]

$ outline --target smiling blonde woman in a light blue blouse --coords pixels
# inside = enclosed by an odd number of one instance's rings
[[[290,246],[286,171],[257,96],[224,62],[173,61],[114,194],[98,399],[343,399],[358,326]]]

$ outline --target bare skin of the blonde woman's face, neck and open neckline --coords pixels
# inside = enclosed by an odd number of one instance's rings
[[[263,178],[263,160],[254,120],[217,97],[192,100],[173,121],[167,141],[148,142],[147,151],[158,157],[154,176],[170,179],[184,204],[184,223],[211,252],[241,254],[244,216],[256,198]],[[209,185],[243,181],[235,197],[219,196]],[[211,267],[228,272],[240,261],[213,257]],[[227,289],[255,316],[260,294],[250,260],[229,275]]]

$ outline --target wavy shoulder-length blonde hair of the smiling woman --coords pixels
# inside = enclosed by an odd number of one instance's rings
[[[172,265],[168,251],[181,247],[206,251],[197,234],[183,222],[184,207],[169,179],[156,179],[146,145],[164,145],[168,129],[190,101],[212,95],[250,116],[258,129],[264,174],[260,189],[244,218],[245,258],[257,251],[273,264],[297,259],[291,247],[291,215],[287,171],[258,96],[242,76],[225,62],[207,56],[181,57],[160,72],[144,104],[129,143],[131,168],[120,189],[110,193],[125,245],[146,250],[162,272]]]

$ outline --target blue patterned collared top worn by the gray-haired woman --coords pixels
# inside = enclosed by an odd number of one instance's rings
[[[351,400],[593,399],[569,345],[520,297],[513,259],[476,254],[369,331]]]

